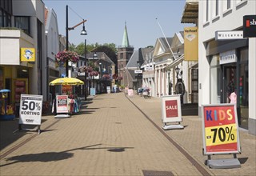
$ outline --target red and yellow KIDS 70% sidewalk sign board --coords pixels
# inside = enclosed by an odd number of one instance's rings
[[[234,104],[203,105],[202,115],[204,154],[241,153]]]

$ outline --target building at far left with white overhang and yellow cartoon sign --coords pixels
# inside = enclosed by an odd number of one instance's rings
[[[42,94],[45,87],[45,5],[40,0],[0,5],[0,89],[11,90],[10,102],[15,103],[20,94]],[[24,58],[26,53],[30,55]]]

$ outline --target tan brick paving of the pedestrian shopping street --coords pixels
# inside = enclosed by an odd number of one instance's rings
[[[162,127],[160,98],[129,99]],[[0,158],[0,175],[202,175],[123,93],[88,98],[71,118],[43,116],[39,135],[13,133],[17,123],[0,122],[1,155],[13,149]],[[165,132],[211,175],[256,174],[254,136],[240,131],[241,168],[211,170],[203,164],[201,119],[185,116],[182,125]]]

